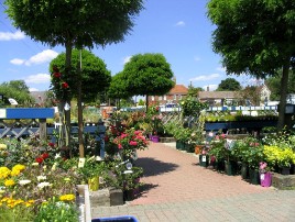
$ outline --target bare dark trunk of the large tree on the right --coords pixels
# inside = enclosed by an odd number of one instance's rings
[[[282,130],[285,125],[285,107],[286,107],[286,96],[287,96],[288,71],[289,71],[289,58],[286,59],[285,64],[283,65],[277,130]]]

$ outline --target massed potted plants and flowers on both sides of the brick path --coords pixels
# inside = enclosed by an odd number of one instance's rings
[[[79,157],[77,145],[58,146],[58,127],[46,140],[39,131],[29,136],[2,136],[0,221],[78,221],[78,185],[88,185],[90,191],[112,187],[122,190],[123,201],[132,200],[143,191],[140,178],[145,170],[136,166],[136,151],[165,138],[173,138],[179,152],[195,153],[199,167],[240,175],[258,186],[272,186],[275,174],[295,174],[292,130],[277,132],[264,126],[259,134],[253,133],[256,127],[206,130],[212,122],[243,125],[253,120],[276,121],[274,111],[247,116],[206,109],[206,104],[188,98],[182,103],[182,112],[162,113],[156,106],[149,107],[148,112],[114,111],[95,131],[85,133],[85,158]]]

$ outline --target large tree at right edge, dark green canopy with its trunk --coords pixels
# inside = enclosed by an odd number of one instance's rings
[[[217,26],[212,47],[229,75],[265,78],[283,70],[277,124],[282,129],[288,73],[295,66],[295,1],[210,0],[207,7]]]

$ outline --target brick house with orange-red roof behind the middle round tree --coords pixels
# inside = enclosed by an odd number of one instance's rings
[[[187,92],[188,88],[184,85],[175,85],[164,96],[149,96],[149,104],[176,104],[187,96]]]

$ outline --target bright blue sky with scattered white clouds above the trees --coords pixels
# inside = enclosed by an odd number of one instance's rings
[[[135,54],[162,53],[176,77],[177,84],[194,87],[209,86],[214,90],[228,78],[220,56],[211,48],[214,25],[206,15],[207,0],[145,0],[145,9],[134,19],[133,31],[124,42],[97,46],[92,53],[105,60],[112,75],[123,69]],[[50,87],[48,64],[62,46],[51,48],[33,42],[11,25],[3,0],[0,5],[0,82],[24,80],[31,90]],[[236,77],[247,85],[249,77]]]

